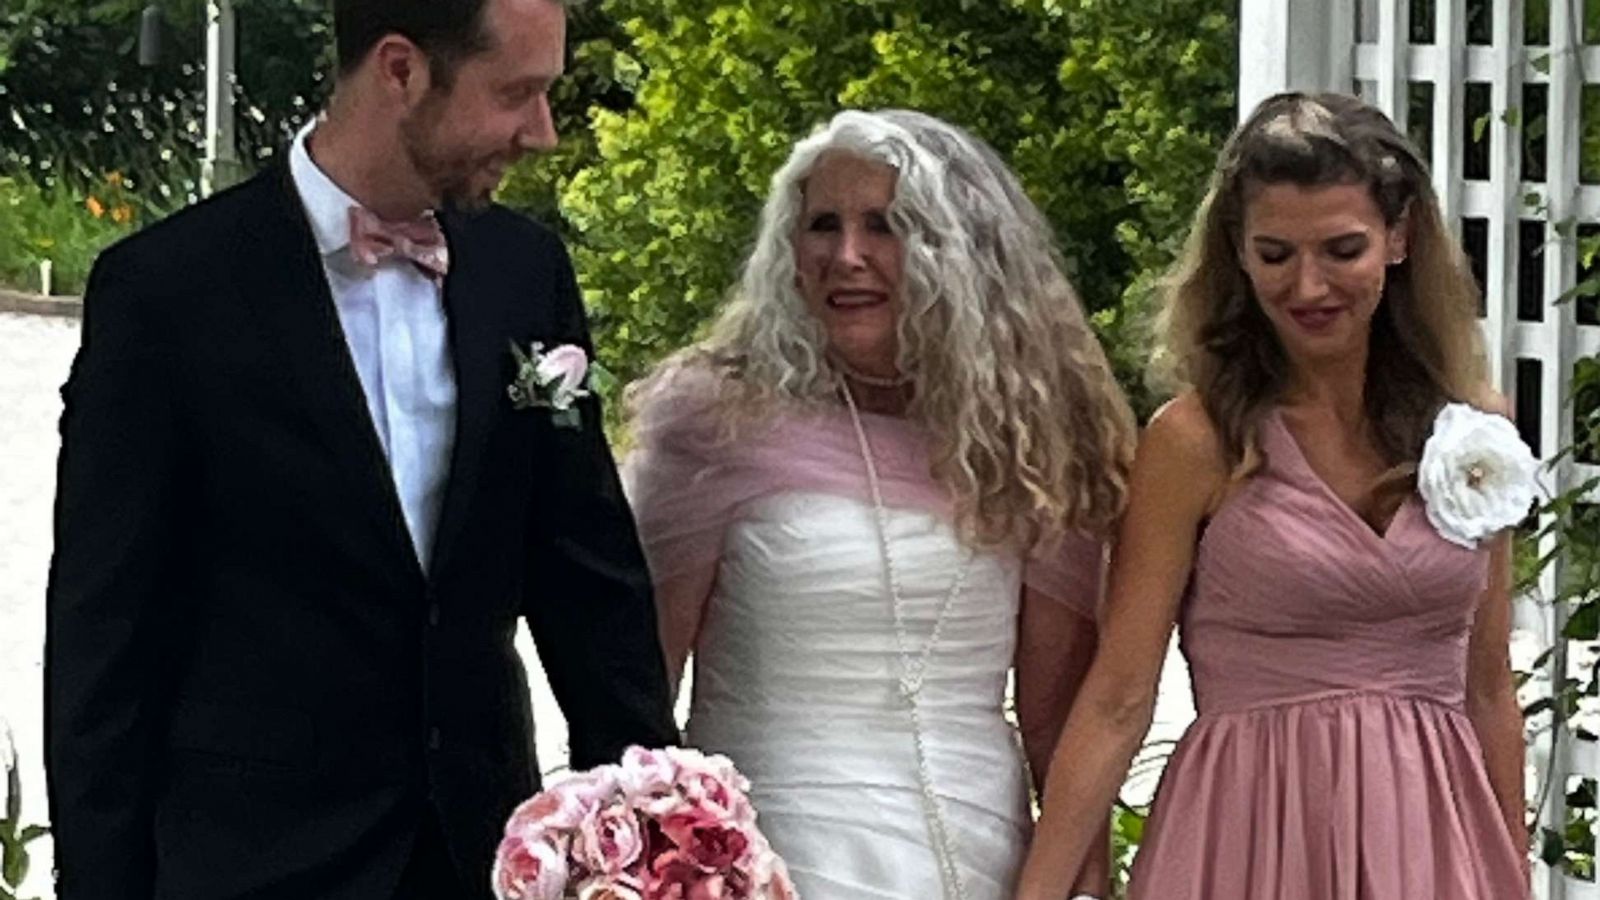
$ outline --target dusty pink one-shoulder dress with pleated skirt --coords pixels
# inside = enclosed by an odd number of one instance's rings
[[[1488,552],[1419,496],[1374,532],[1274,410],[1262,469],[1206,527],[1181,634],[1198,719],[1130,900],[1528,897],[1464,713]]]

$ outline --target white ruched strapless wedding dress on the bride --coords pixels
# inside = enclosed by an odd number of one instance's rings
[[[741,509],[696,645],[688,743],[749,777],[802,900],[1003,900],[1030,833],[1003,716],[1022,564],[978,554],[949,604],[917,693],[923,777],[902,663],[970,551],[934,514],[886,522],[907,653],[870,501],[794,492]]]

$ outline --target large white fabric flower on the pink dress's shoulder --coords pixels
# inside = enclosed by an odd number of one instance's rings
[[[1446,404],[1422,447],[1416,487],[1446,541],[1475,549],[1528,514],[1539,461],[1506,416]]]

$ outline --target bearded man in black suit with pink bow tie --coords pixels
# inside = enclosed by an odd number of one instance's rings
[[[288,162],[107,250],[62,389],[46,738],[61,900],[486,897],[538,786],[677,741],[571,264],[488,202],[555,144],[557,0],[336,0]],[[432,210],[438,210],[434,216]],[[576,428],[574,428],[576,424]]]

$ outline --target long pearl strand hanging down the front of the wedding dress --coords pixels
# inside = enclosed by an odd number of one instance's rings
[[[907,713],[910,714],[910,735],[917,749],[917,783],[922,788],[923,818],[928,822],[933,852],[939,860],[939,879],[944,882],[946,900],[965,900],[966,887],[962,884],[962,871],[955,863],[950,830],[944,822],[944,810],[939,807],[939,794],[933,790],[933,770],[928,764],[928,740],[922,729],[918,698],[923,679],[928,674],[928,660],[933,657],[933,649],[939,644],[939,634],[944,631],[950,607],[955,605],[955,599],[966,586],[966,575],[971,570],[974,554],[968,551],[960,569],[955,570],[950,589],[946,591],[944,601],[939,604],[939,615],[933,621],[933,633],[928,636],[928,642],[923,644],[922,652],[914,658],[910,650],[906,649],[906,601],[899,588],[899,570],[894,565],[894,556],[890,552],[888,509],[883,504],[883,485],[878,480],[878,466],[872,456],[867,429],[861,424],[861,412],[856,410],[856,399],[850,392],[850,384],[840,383],[840,389],[845,394],[845,405],[850,407],[850,421],[856,426],[856,440],[861,444],[861,461],[867,466],[867,487],[872,490],[872,511],[877,514],[878,551],[883,554],[883,578],[888,583],[890,609],[894,612],[894,642],[899,647],[901,677],[898,687],[901,700],[906,701]]]

